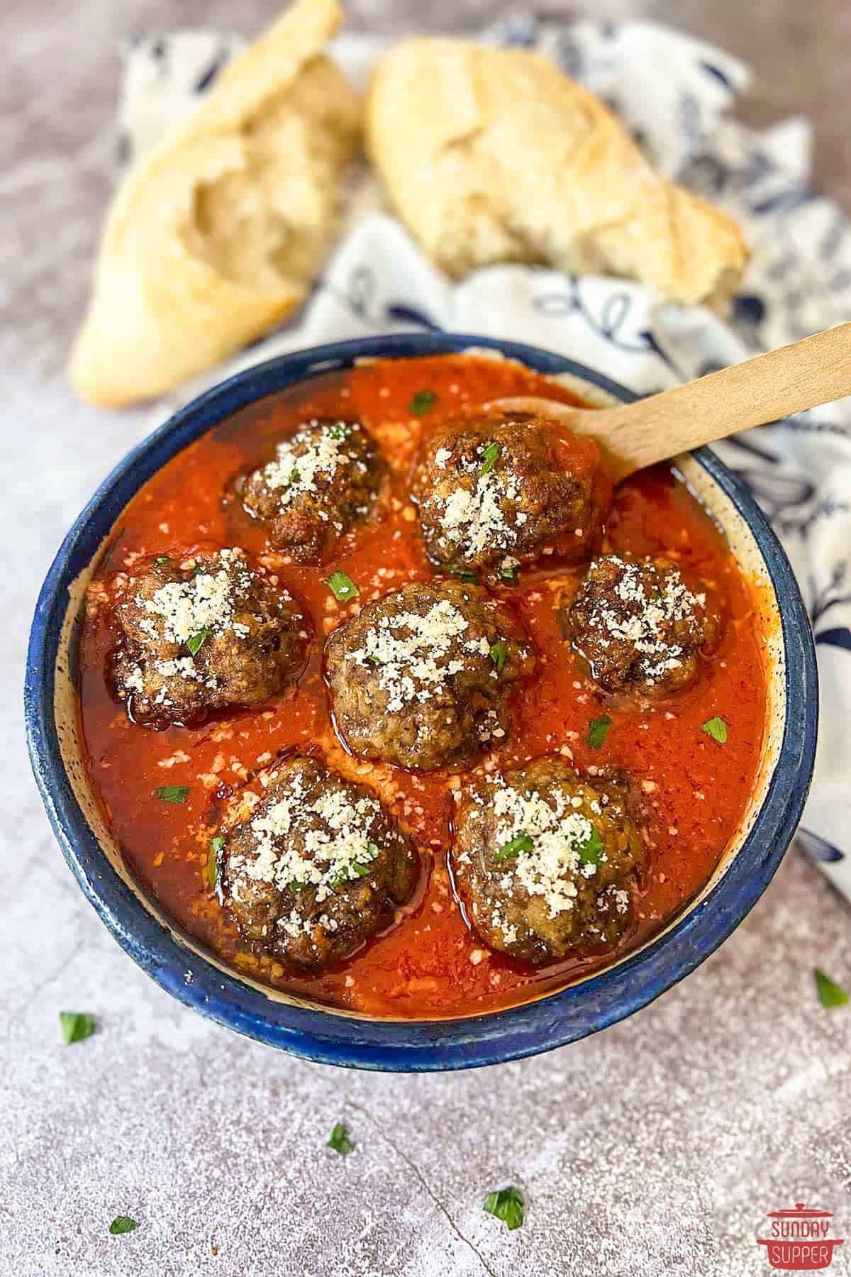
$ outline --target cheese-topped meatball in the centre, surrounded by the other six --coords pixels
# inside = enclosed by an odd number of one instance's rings
[[[365,607],[328,640],[337,728],[353,753],[431,771],[468,764],[509,730],[509,695],[535,660],[478,586],[427,581]]]

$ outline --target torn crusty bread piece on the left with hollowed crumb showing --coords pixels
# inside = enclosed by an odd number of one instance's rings
[[[167,391],[304,300],[360,129],[322,54],[339,19],[337,0],[299,0],[126,175],[70,364],[83,398]]]

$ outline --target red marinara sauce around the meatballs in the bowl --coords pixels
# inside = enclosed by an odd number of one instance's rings
[[[430,391],[426,411],[415,395]],[[649,803],[649,866],[638,927],[593,959],[532,969],[491,953],[468,928],[453,895],[447,853],[449,771],[411,774],[346,755],[334,736],[322,673],[325,636],[364,603],[408,581],[434,576],[422,552],[408,484],[418,444],[441,421],[490,400],[542,395],[579,402],[564,387],[519,364],[463,355],[379,360],[315,378],[237,412],[185,448],[130,502],[89,586],[80,644],[80,720],[88,773],[106,820],[133,873],[171,917],[225,962],[288,994],[369,1015],[440,1018],[475,1014],[537,997],[620,956],[658,930],[708,880],[745,812],[759,766],[767,713],[759,595],[697,499],[660,466],[620,485],[607,520],[612,549],[665,553],[699,576],[723,607],[723,633],[708,673],[656,705],[612,701],[598,692],[564,642],[555,613],[558,581],[582,566],[523,570],[500,589],[519,612],[537,651],[537,670],[519,693],[515,727],[494,751],[501,767],[559,751],[582,770],[612,762],[644,783]],[[429,397],[426,396],[426,400]],[[422,405],[422,398],[418,406]],[[346,536],[322,567],[269,557],[265,531],[223,493],[235,475],[269,460],[274,444],[310,418],[359,419],[390,466],[378,517]],[[577,441],[574,467],[596,465],[596,450]],[[115,644],[103,605],[117,573],[156,554],[242,545],[265,558],[313,624],[307,667],[295,687],[268,706],[235,710],[199,728],[154,732],[131,723],[111,699],[105,665]],[[328,576],[344,571],[360,589],[338,603]],[[609,715],[603,744],[587,741],[592,719]],[[727,724],[718,744],[702,724]],[[318,974],[285,969],[253,954],[230,922],[207,876],[211,838],[223,805],[282,753],[323,756],[371,785],[417,843],[420,889],[394,925],[347,962]],[[157,798],[163,785],[186,785],[182,805]]]

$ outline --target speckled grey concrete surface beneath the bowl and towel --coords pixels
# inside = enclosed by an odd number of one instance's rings
[[[418,10],[353,8],[396,28]],[[766,1212],[794,1202],[836,1211],[851,1236],[851,1014],[822,1010],[811,983],[814,964],[851,982],[850,911],[801,856],[632,1020],[537,1060],[424,1078],[316,1068],[207,1024],[124,956],[61,861],[24,761],[20,681],[50,557],[142,428],[75,405],[61,377],[111,180],[116,40],[202,17],[251,31],[272,11],[4,5],[0,1274],[744,1277],[768,1271]],[[820,116],[822,181],[847,202],[843,0],[595,11],[676,15],[754,60],[755,117]],[[473,24],[494,9],[443,13]],[[98,1033],[64,1047],[61,1009],[96,1013]],[[346,1160],[324,1147],[338,1119],[357,1145]],[[528,1200],[510,1235],[481,1212],[509,1181]],[[138,1231],[108,1236],[116,1213]],[[851,1241],[834,1271],[850,1260]]]

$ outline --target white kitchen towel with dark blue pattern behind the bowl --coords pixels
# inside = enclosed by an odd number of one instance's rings
[[[646,393],[851,319],[851,231],[809,185],[810,130],[792,119],[753,133],[727,115],[748,68],[646,22],[550,23],[527,14],[482,33],[538,49],[603,97],[653,161],[743,226],[751,261],[729,323],[700,306],[658,305],[639,285],[500,266],[452,283],[383,213],[361,172],[346,231],[304,312],[168,400],[273,355],[361,335],[448,328],[527,341]],[[343,36],[332,51],[361,86],[385,41]],[[194,109],[240,37],[208,31],[129,42],[120,156],[138,158]],[[162,416],[162,409],[158,411]],[[851,400],[717,446],[782,540],[815,631],[822,686],[815,779],[800,842],[851,898]]]

